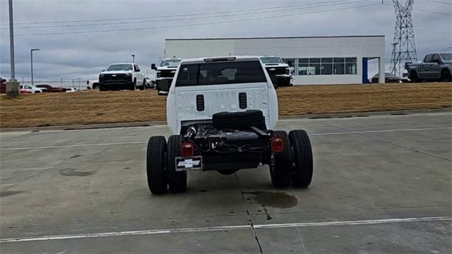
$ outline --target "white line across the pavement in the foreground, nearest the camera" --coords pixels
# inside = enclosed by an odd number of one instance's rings
[[[399,219],[369,219],[369,220],[355,220],[355,221],[333,221],[333,222],[299,222],[299,223],[283,223],[283,224],[254,224],[255,229],[278,229],[278,228],[299,228],[309,226],[353,226],[353,225],[370,225],[370,224],[396,224],[396,223],[410,223],[410,222],[439,222],[450,221],[452,217],[413,217],[413,218],[399,218]],[[138,235],[153,235],[153,234],[177,234],[177,233],[194,233],[207,231],[225,231],[225,230],[244,230],[253,229],[251,225],[237,225],[237,226],[208,226],[198,228],[184,228],[184,229],[151,229],[138,231],[117,231],[117,232],[102,232],[102,233],[86,233],[86,234],[66,234],[54,236],[35,236],[35,237],[17,237],[17,238],[0,238],[0,243],[17,243],[17,242],[32,242],[32,241],[52,241],[65,240],[76,238],[96,238],[96,237],[111,237],[111,236],[138,236]]]

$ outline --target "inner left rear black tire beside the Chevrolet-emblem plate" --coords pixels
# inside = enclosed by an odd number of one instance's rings
[[[181,156],[181,136],[171,135],[168,138],[168,186],[172,193],[186,191],[186,171],[176,171],[176,157]]]

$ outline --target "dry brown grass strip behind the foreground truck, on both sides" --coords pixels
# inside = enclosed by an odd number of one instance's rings
[[[278,90],[280,116],[452,107],[452,83],[303,85]],[[165,120],[155,90],[0,96],[0,128]]]

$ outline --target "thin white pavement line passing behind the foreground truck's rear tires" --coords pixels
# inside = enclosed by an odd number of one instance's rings
[[[333,126],[337,127],[337,126]],[[362,134],[362,133],[386,133],[386,132],[398,132],[398,131],[438,131],[438,130],[451,130],[452,127],[439,127],[439,128],[405,128],[405,129],[391,129],[391,130],[374,130],[374,131],[344,131],[334,133],[309,133],[311,136],[315,135],[347,135],[347,134]],[[0,150],[34,150],[34,149],[52,149],[63,147],[86,147],[86,146],[104,146],[104,145],[131,145],[131,144],[144,144],[146,141],[131,141],[131,142],[119,142],[119,143],[93,143],[93,144],[78,144],[78,145],[52,145],[42,147],[2,147]]]

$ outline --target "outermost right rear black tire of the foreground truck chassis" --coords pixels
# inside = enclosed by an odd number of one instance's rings
[[[295,130],[289,133],[293,150],[292,185],[307,187],[311,184],[314,163],[312,159],[311,141],[306,131]]]

